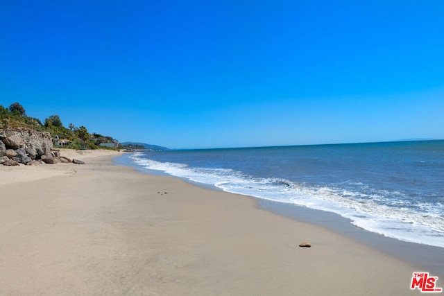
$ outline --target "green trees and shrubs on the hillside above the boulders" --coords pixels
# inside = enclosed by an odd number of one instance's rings
[[[44,124],[39,119],[26,115],[26,111],[19,103],[13,103],[8,108],[0,105],[0,129],[6,128],[29,128],[40,132],[50,132],[53,142],[56,145],[59,140],[65,139],[63,147],[74,149],[96,149],[101,143],[117,143],[118,141],[109,136],[101,134],[89,134],[85,126],[76,128],[73,123],[69,123],[69,128],[63,126],[58,115],[51,115],[44,120]],[[113,145],[109,145],[113,146]],[[113,147],[100,146],[104,149],[116,149]]]

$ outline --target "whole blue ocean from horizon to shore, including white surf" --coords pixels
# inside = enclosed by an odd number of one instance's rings
[[[141,151],[142,170],[330,211],[361,229],[444,247],[444,141]]]

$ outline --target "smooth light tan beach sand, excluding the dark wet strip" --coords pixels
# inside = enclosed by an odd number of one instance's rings
[[[86,164],[0,166],[0,295],[421,294],[415,266],[253,198],[62,155]]]

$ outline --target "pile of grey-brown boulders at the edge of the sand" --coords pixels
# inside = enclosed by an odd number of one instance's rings
[[[75,159],[76,160],[76,159]],[[0,164],[39,165],[73,162],[60,156],[60,150],[53,149],[49,132],[35,132],[27,128],[0,130]],[[76,162],[79,162],[76,160]]]

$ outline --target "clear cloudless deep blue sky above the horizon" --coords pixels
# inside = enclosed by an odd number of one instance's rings
[[[444,139],[444,1],[0,1],[0,105],[169,148]]]

